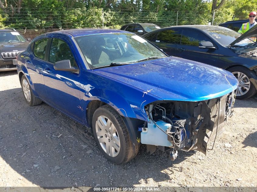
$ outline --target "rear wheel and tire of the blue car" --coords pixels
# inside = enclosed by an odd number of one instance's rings
[[[41,99],[34,96],[32,89],[30,87],[30,84],[29,84],[28,80],[26,79],[25,75],[23,75],[21,77],[20,84],[21,84],[24,99],[30,106],[35,106],[35,105],[39,105],[40,103],[42,103]]]

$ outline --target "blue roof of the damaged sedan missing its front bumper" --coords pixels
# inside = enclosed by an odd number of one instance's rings
[[[131,33],[131,32],[116,30],[116,29],[68,29],[68,30],[50,32],[50,34],[55,34],[55,33],[68,33],[73,37],[78,37],[78,36],[96,35],[96,34],[104,34],[104,33]]]

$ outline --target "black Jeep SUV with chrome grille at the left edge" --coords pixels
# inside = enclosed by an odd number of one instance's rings
[[[29,42],[15,29],[0,29],[0,72],[16,70],[16,57]]]

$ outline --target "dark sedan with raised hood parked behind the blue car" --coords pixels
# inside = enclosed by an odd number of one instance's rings
[[[257,44],[250,39],[257,25],[241,35],[214,25],[182,25],[149,32],[142,37],[169,56],[207,63],[234,74],[237,99],[253,96],[257,89]]]

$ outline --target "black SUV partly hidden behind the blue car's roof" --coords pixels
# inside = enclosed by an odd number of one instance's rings
[[[136,33],[137,35],[144,35],[148,32],[154,31],[156,29],[161,29],[158,25],[153,23],[129,23],[123,25],[120,30],[129,31]]]

